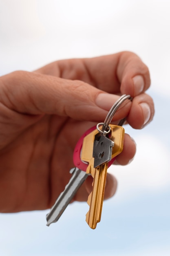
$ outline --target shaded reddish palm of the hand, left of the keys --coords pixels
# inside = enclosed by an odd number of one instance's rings
[[[8,212],[51,207],[69,180],[75,144],[89,126],[44,116],[7,146],[0,155],[6,181],[0,179],[0,188],[7,193]]]

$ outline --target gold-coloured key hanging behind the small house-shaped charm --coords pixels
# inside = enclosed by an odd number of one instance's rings
[[[110,137],[114,141],[114,147],[112,148],[112,159],[121,153],[124,144],[124,128],[121,126],[110,125]],[[99,168],[94,168],[94,158],[93,158],[93,144],[95,135],[98,131],[95,130],[91,132],[84,138],[82,146],[82,156],[83,161],[88,162],[88,167],[86,173],[91,173],[93,177],[93,189],[88,196],[87,203],[90,206],[88,213],[86,214],[86,222],[92,229],[96,228],[98,222],[100,222],[102,214],[102,205],[104,200],[104,190],[106,185],[106,175],[108,163],[104,163],[99,166]]]

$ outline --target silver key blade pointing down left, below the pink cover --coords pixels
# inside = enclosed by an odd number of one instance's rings
[[[85,171],[82,171],[77,167],[72,168],[70,170],[70,173],[72,173],[71,179],[65,186],[64,191],[57,198],[50,212],[46,215],[47,226],[49,226],[53,222],[57,222],[57,220],[60,218],[60,216],[68,206],[68,204],[75,196],[79,187],[83,184],[83,182],[89,175]]]

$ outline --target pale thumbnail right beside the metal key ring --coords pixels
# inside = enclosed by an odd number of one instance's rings
[[[119,96],[110,93],[100,93],[96,98],[96,105],[104,110],[110,110],[115,101],[119,99]]]

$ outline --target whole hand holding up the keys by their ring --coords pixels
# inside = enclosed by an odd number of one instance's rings
[[[97,58],[56,61],[35,72],[0,78],[0,211],[46,209],[63,191],[79,137],[104,121],[120,94],[130,94],[113,121],[127,116],[140,129],[154,115],[148,68],[130,52]],[[135,144],[125,136],[119,164],[128,164]],[[91,177],[74,200],[87,200]],[[116,189],[107,177],[106,198]]]

